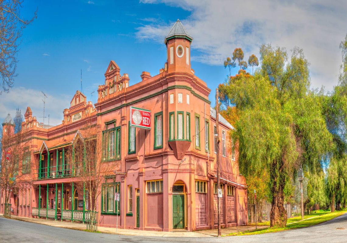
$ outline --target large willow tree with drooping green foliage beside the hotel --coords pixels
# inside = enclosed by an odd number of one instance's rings
[[[313,173],[331,150],[318,95],[310,90],[309,63],[294,48],[288,61],[284,48],[262,45],[261,68],[254,76],[230,81],[228,97],[239,119],[232,134],[239,143],[244,175],[269,175],[270,226],[286,226],[285,196],[300,165]]]

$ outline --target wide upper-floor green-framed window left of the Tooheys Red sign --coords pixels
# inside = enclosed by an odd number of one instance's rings
[[[120,160],[120,126],[102,131],[103,161]]]

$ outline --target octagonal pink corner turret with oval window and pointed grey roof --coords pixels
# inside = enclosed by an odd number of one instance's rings
[[[191,73],[191,37],[181,21],[177,19],[176,23],[170,29],[164,39],[167,48],[168,72],[186,72]]]

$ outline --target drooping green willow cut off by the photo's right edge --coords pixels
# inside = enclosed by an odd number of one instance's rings
[[[331,210],[347,204],[347,35],[340,43],[342,64],[339,84],[330,96],[323,96],[323,114],[327,127],[333,135],[335,150],[331,154],[328,169],[327,195]]]

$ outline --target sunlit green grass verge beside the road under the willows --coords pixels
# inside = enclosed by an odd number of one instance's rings
[[[330,219],[336,218],[338,216],[341,216],[342,214],[347,213],[347,209],[335,211],[333,213],[327,213],[326,211],[319,211],[316,213],[316,216],[313,216],[315,214],[305,215],[307,216],[306,220],[295,222],[293,224],[287,225],[287,227],[272,227],[272,228],[264,228],[264,229],[257,229],[254,231],[245,231],[245,232],[239,232],[239,233],[231,233],[229,236],[234,235],[257,235],[257,234],[264,234],[264,233],[274,233],[279,231],[285,231],[289,229],[296,229],[296,228],[302,228],[302,227],[308,227],[316,224],[323,223],[325,221],[328,221]],[[311,218],[314,217],[314,218]],[[297,218],[297,217],[296,217]],[[301,220],[301,217],[299,217]],[[305,218],[305,217],[304,217]]]

